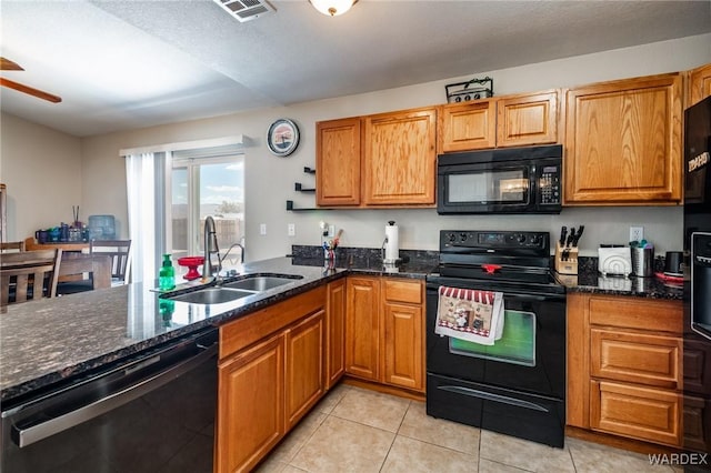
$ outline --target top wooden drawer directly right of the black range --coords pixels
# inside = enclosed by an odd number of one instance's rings
[[[680,301],[591,298],[590,323],[681,334],[682,305]]]

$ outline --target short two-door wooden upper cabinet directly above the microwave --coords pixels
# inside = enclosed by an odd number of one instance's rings
[[[449,153],[555,143],[559,101],[560,93],[548,90],[442,105],[438,150]]]

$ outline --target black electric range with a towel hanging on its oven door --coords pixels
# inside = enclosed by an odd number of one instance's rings
[[[440,336],[440,288],[502,294],[504,328],[491,346]],[[434,417],[562,447],[565,288],[550,270],[550,234],[442,230],[427,276],[427,411]]]

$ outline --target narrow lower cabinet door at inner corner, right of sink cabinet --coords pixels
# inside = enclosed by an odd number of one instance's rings
[[[346,279],[329,283],[328,294],[327,390],[338,383],[346,371]]]

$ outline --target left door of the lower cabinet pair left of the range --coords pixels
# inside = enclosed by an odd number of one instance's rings
[[[378,381],[380,280],[348,278],[346,305],[346,372]]]

